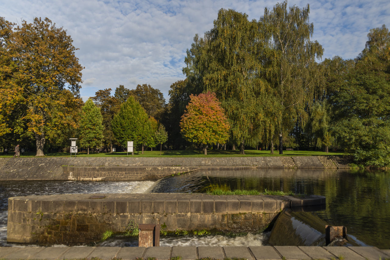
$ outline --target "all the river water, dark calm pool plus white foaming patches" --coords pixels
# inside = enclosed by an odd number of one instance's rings
[[[326,196],[326,209],[312,212],[333,226],[346,226],[348,235],[381,249],[390,247],[390,173],[318,169],[251,169],[199,171],[153,182],[0,182],[0,246],[6,243],[7,201],[12,196],[62,193],[202,193],[214,188],[282,190]],[[266,234],[227,238],[161,237],[171,245],[262,245]],[[136,240],[109,239],[100,246],[136,246]]]

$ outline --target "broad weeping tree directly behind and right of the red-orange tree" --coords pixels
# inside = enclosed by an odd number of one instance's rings
[[[245,154],[245,143],[259,141],[264,133],[263,107],[259,104],[265,99],[268,84],[259,77],[259,57],[264,52],[261,38],[256,21],[248,21],[246,14],[220,9],[214,27],[204,39],[194,38],[183,69],[199,90],[216,93],[240,154]]]

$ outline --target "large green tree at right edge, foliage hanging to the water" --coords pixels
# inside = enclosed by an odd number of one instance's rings
[[[355,67],[342,74],[330,98],[333,131],[356,163],[390,164],[390,33],[370,30]]]

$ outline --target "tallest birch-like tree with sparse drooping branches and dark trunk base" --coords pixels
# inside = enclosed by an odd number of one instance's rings
[[[306,113],[321,75],[316,58],[321,58],[323,48],[317,41],[310,41],[314,26],[308,20],[309,5],[287,10],[285,1],[272,11],[265,8],[259,21],[268,45],[265,76],[280,106],[276,122],[279,154],[283,154],[283,134],[291,131],[298,115]]]

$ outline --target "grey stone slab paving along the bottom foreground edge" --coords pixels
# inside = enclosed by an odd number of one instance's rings
[[[390,249],[375,247],[343,246],[161,246],[143,247],[2,247],[0,259],[80,259],[101,258],[103,260],[122,258],[158,260],[180,256],[180,260],[200,258],[246,258],[248,260],[273,259],[344,259],[344,260],[385,260],[390,259]]]

